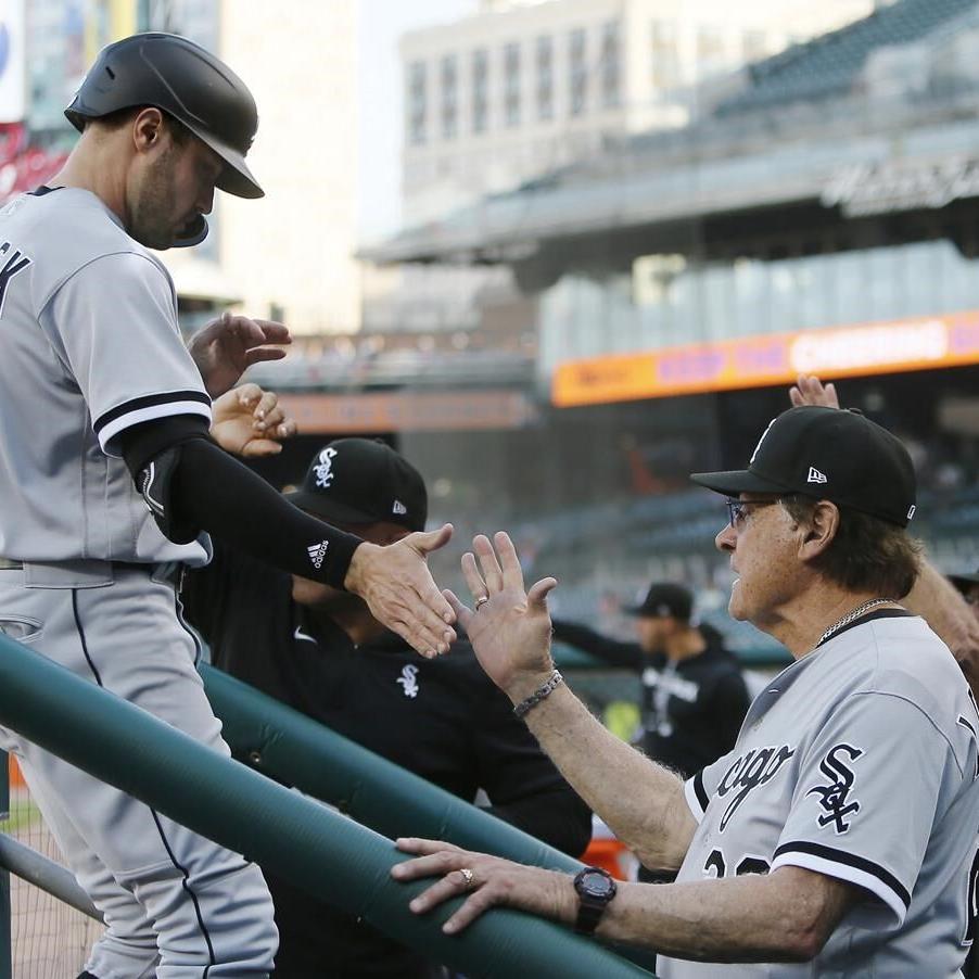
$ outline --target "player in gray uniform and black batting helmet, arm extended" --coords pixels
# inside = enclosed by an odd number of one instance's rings
[[[204,49],[148,34],[106,48],[66,111],[82,135],[52,186],[0,212],[0,628],[228,754],[182,626],[179,569],[206,532],[347,587],[425,654],[454,615],[424,564],[450,527],[364,544],[302,513],[208,436],[256,343],[225,318],[189,352],[147,250],[201,241],[217,186],[262,195],[255,103]],[[257,336],[256,336],[257,334]],[[414,538],[414,539],[412,539]],[[52,719],[52,723],[56,723]],[[266,975],[259,870],[13,732],[27,780],[106,930],[98,979]]]

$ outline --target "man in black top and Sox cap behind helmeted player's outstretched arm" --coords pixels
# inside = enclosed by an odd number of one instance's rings
[[[276,452],[275,437],[294,431],[275,395],[255,385],[214,410],[214,436],[242,455]],[[367,438],[325,446],[288,496],[380,545],[423,530],[428,511],[418,471]],[[423,660],[357,596],[219,545],[207,568],[187,575],[182,599],[215,665],[455,796],[472,801],[483,789],[491,812],[552,847],[577,856],[588,846],[590,811],[513,716],[468,644]],[[279,927],[277,977],[442,975],[356,916],[264,870]]]

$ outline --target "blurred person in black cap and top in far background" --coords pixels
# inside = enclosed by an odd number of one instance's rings
[[[657,582],[643,603],[628,612],[636,620],[637,643],[558,619],[554,635],[638,673],[641,729],[635,742],[668,768],[692,775],[734,747],[750,702],[741,670],[720,633],[691,621],[689,588]]]

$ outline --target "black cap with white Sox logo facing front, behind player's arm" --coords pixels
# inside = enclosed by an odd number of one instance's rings
[[[302,486],[285,498],[330,523],[396,523],[423,531],[429,514],[421,473],[374,438],[336,438],[323,446]]]

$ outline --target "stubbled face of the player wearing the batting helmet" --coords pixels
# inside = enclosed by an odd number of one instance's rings
[[[129,208],[129,233],[149,249],[168,249],[199,214],[214,206],[220,157],[198,139],[167,142],[148,164]]]

